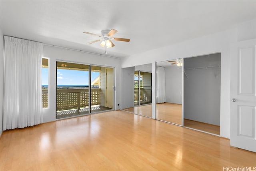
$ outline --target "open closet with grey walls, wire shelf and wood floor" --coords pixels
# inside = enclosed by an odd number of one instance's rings
[[[220,53],[184,58],[184,126],[220,135]]]

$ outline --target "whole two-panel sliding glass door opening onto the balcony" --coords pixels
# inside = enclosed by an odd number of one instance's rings
[[[114,68],[56,62],[56,83],[56,119],[114,108]]]

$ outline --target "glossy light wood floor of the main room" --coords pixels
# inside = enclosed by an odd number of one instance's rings
[[[229,140],[125,111],[4,131],[1,171],[223,171],[255,166]]]

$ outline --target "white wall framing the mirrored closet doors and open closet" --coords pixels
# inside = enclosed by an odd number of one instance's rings
[[[155,97],[155,62],[221,52],[220,136],[230,138],[230,44],[236,41],[237,28],[233,28],[124,58],[122,67],[152,63],[152,97]],[[152,117],[155,118],[155,105]]]

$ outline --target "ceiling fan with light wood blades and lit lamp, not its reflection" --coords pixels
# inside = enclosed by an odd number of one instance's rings
[[[116,32],[117,32],[117,30],[115,30],[115,29],[112,28],[111,30],[102,30],[102,31],[101,31],[101,36],[98,35],[98,34],[90,33],[90,32],[84,32],[84,33],[101,37],[101,39],[98,39],[98,40],[94,40],[94,41],[92,41],[92,42],[89,42],[89,44],[102,41],[102,42],[100,43],[100,46],[102,46],[103,48],[105,48],[105,53],[107,54],[106,48],[111,48],[111,47],[114,47],[114,46],[115,46],[115,45],[113,44],[112,40],[123,41],[123,42],[130,42],[130,39],[126,39],[126,38],[112,38],[112,36],[113,36],[114,34],[116,34]]]

